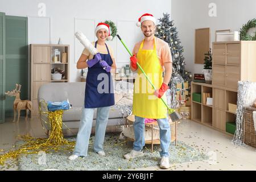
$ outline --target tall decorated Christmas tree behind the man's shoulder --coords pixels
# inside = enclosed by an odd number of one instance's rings
[[[167,42],[172,54],[172,78],[180,75],[184,82],[192,80],[191,72],[185,70],[185,60],[183,57],[184,49],[178,39],[177,28],[174,27],[174,21],[170,20],[170,14],[163,14],[163,18],[158,19],[160,24],[156,25],[155,36]],[[172,81],[170,80],[169,86]]]

